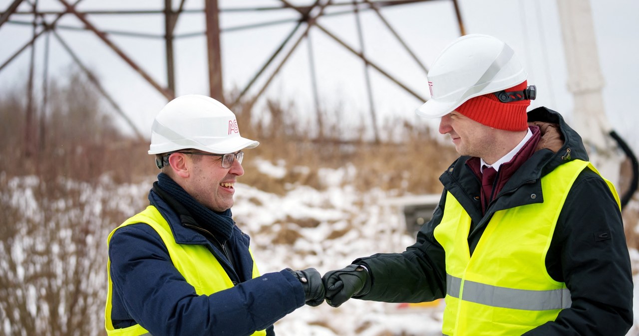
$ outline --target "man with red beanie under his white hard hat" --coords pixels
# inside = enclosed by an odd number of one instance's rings
[[[535,87],[491,36],[454,41],[428,78],[417,114],[441,118],[461,157],[417,242],[327,272],[327,302],[445,297],[444,335],[626,335],[633,279],[619,197],[580,136],[557,112],[526,112]]]

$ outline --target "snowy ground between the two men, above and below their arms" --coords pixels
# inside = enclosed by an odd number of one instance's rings
[[[323,274],[357,257],[403,251],[412,244],[399,208],[385,205],[383,191],[360,194],[343,185],[339,172],[324,173],[332,181],[325,191],[298,186],[277,196],[236,184],[233,215],[249,233],[262,273],[314,267]],[[441,302],[407,306],[362,300],[349,300],[337,309],[326,303],[305,306],[281,319],[275,330],[282,336],[442,334]]]

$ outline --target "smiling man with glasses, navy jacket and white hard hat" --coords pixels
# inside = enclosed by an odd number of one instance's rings
[[[190,94],[151,128],[162,170],[150,205],[109,235],[109,335],[274,335],[273,323],[324,300],[314,269],[259,275],[249,237],[231,218],[243,150],[235,114]]]

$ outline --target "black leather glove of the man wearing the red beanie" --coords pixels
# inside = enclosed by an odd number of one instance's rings
[[[332,307],[339,307],[354,295],[364,295],[371,288],[368,271],[360,265],[327,272],[321,279],[326,288],[326,302]]]

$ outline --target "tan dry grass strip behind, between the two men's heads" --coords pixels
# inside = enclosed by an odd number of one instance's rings
[[[339,135],[343,126],[323,125],[333,130],[311,136],[308,129],[300,128],[295,110],[284,109],[275,102],[268,104],[272,124],[268,128],[252,125],[250,106],[232,106],[238,115],[242,135],[259,140],[261,145],[247,154],[248,173],[242,182],[272,193],[286,193],[287,184],[303,184],[316,189],[324,187],[318,177],[321,168],[353,166],[357,178],[348,181],[360,191],[378,187],[384,190],[396,189],[399,193],[439,193],[441,184],[438,177],[457,156],[454,148],[433,140],[427,128],[415,128],[402,119],[384,122],[388,129],[382,129],[385,138],[397,138],[393,142],[376,143],[364,138],[361,129],[351,129],[355,140],[344,140]],[[398,126],[399,125],[399,126]],[[397,129],[399,127],[399,130]],[[335,131],[338,130],[338,131]],[[256,170],[250,170],[250,157],[260,157],[271,162],[286,164],[286,175],[273,178]],[[304,170],[292,169],[304,166]]]

